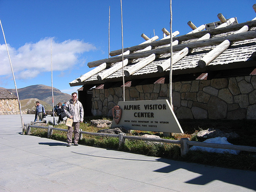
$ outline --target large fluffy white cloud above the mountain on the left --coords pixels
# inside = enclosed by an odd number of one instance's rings
[[[8,45],[16,78],[30,79],[40,72],[51,71],[51,40],[53,71],[65,71],[84,62],[80,55],[96,49],[82,40],[56,42],[54,38],[41,39],[35,44],[27,43],[17,50]],[[11,70],[5,45],[0,45],[0,63],[0,75],[9,75]]]

